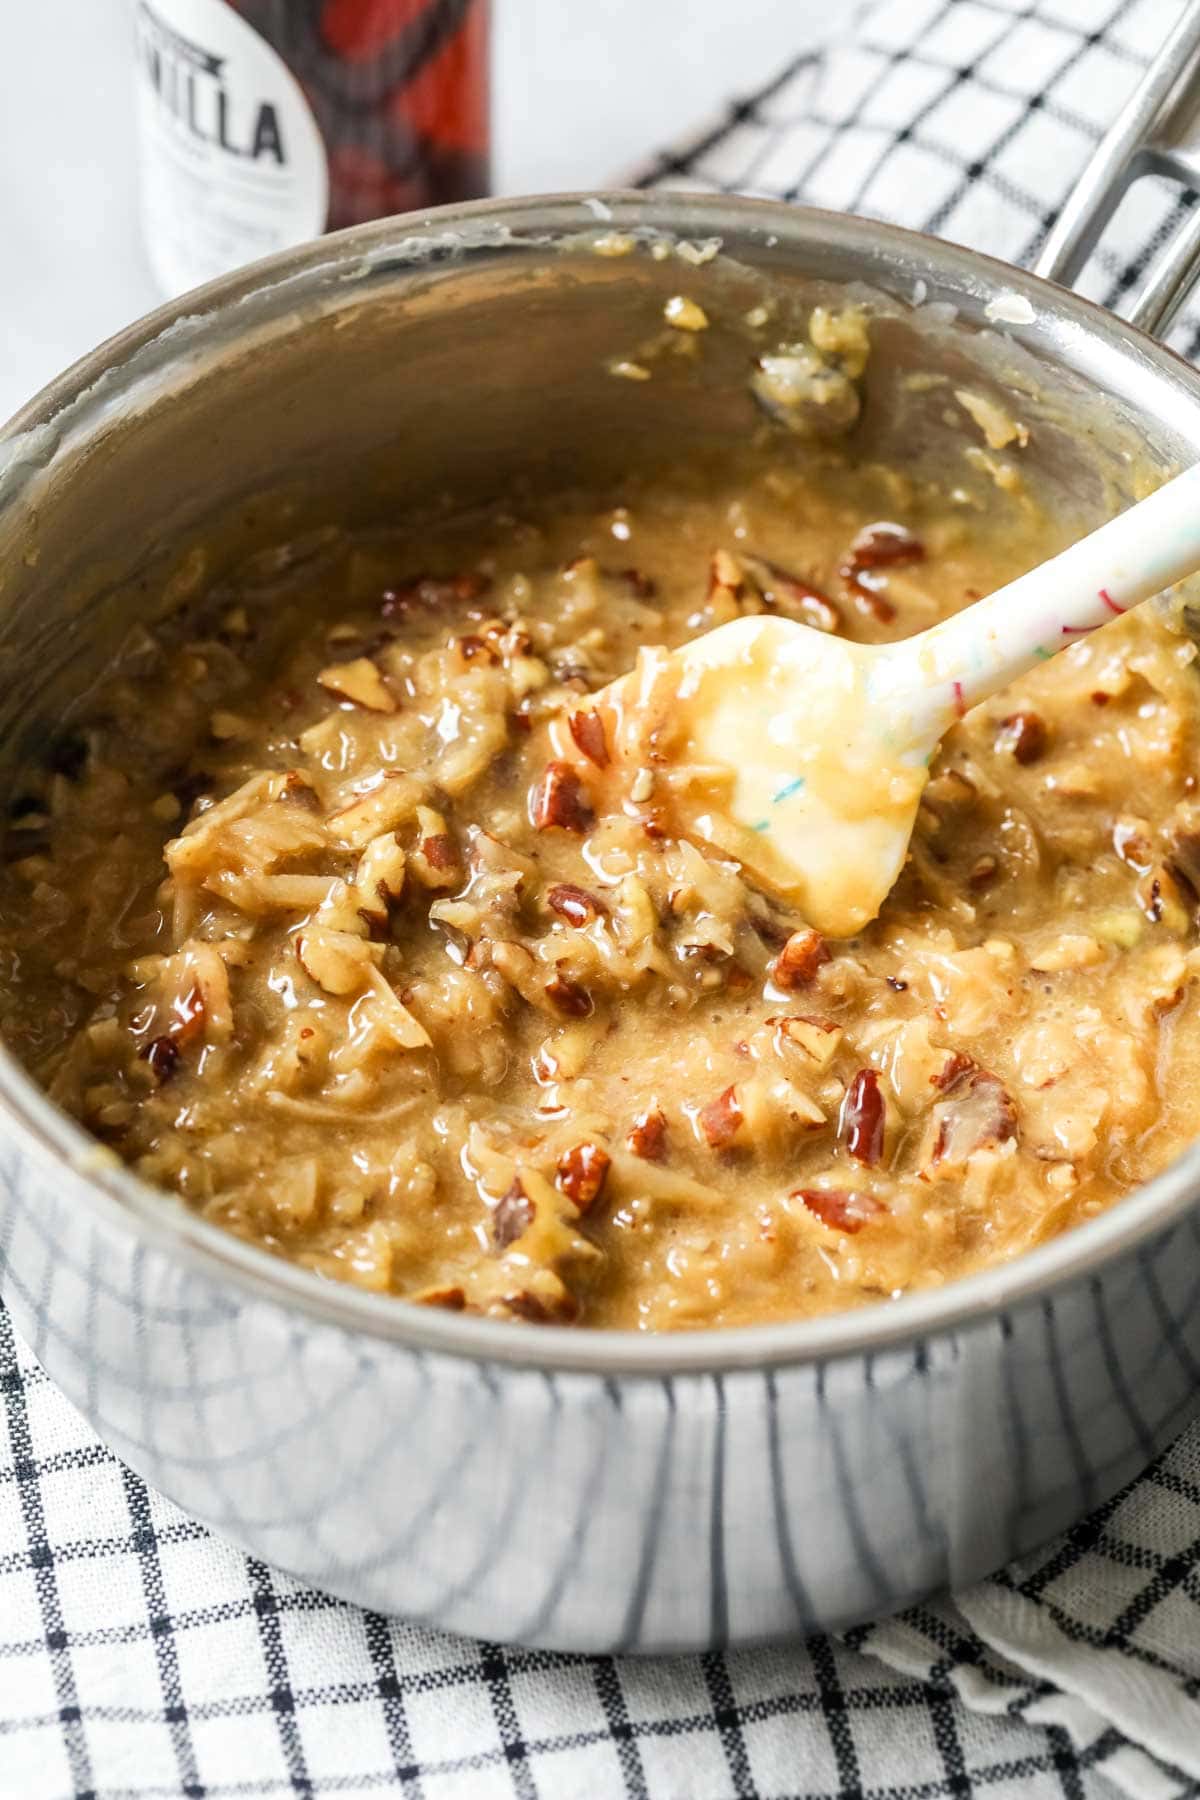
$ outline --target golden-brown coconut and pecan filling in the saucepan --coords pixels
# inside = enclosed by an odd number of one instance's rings
[[[1043,1242],[1195,1134],[1182,623],[955,725],[844,940],[682,835],[718,776],[653,695],[732,617],[907,637],[1056,547],[1020,518],[747,452],[214,571],[14,788],[5,1040],[146,1181],[425,1305],[739,1325]]]

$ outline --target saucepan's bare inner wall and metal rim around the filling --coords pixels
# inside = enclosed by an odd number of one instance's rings
[[[711,328],[655,356],[664,302]],[[756,355],[813,304],[873,315],[851,446],[1065,540],[1193,461],[1200,387],[1105,313],[950,245],[865,221],[691,196],[446,209],[345,232],[167,308],[65,374],[0,441],[0,797],[85,704],[130,634],[246,553],[324,524],[428,517],[729,455],[766,430]],[[768,326],[763,326],[766,311]],[[651,378],[624,364],[649,355]],[[1024,499],[995,484],[952,403],[970,385],[1036,425]],[[781,432],[781,455],[802,446]],[[92,1156],[5,1062],[7,1130]],[[95,1165],[95,1202],[257,1291],[464,1354],[576,1366],[720,1366],[916,1336],[1103,1260],[1189,1204],[1193,1157],[1108,1219],[1020,1265],[878,1314],[671,1343],[518,1332],[331,1292]]]

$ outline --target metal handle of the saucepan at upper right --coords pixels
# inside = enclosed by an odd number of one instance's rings
[[[1200,4],[1184,0],[1169,38],[1105,133],[1051,229],[1034,272],[1070,286],[1133,182],[1168,175],[1200,185]],[[1200,207],[1166,245],[1130,308],[1160,337],[1200,277]]]

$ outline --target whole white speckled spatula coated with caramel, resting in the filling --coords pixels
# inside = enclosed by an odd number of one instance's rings
[[[644,758],[658,709],[671,760],[716,774],[694,797],[680,790],[684,833],[736,855],[811,925],[846,938],[903,868],[943,733],[1196,569],[1200,464],[918,637],[855,644],[759,614],[671,657],[644,655],[590,706],[613,767]]]

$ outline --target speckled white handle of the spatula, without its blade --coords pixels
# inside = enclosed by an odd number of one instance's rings
[[[968,707],[1200,569],[1200,464],[873,671],[894,736],[928,751]]]

